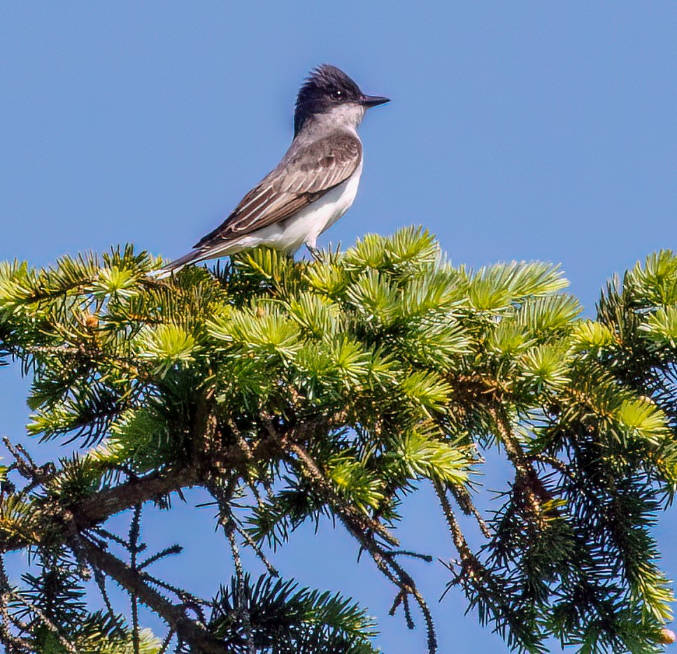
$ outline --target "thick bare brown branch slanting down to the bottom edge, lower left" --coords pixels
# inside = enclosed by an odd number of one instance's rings
[[[155,611],[178,637],[191,646],[191,651],[205,654],[227,654],[227,647],[219,639],[189,618],[185,611],[172,604],[155,588],[145,583],[143,574],[131,569],[126,563],[94,545],[85,538],[79,538],[77,548],[92,567],[97,567],[128,592],[136,595],[149,609]]]

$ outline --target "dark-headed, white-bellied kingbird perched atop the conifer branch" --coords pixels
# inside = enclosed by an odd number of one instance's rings
[[[299,91],[294,140],[282,161],[192,252],[160,272],[261,245],[293,255],[305,243],[314,254],[318,236],[355,200],[362,173],[357,126],[369,107],[388,101],[364,95],[336,66],[318,66]]]

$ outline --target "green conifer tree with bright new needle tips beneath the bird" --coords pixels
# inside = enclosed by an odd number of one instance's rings
[[[440,564],[394,529],[423,484],[448,526],[446,590],[515,651],[552,637],[662,651],[673,596],[651,527],[677,483],[677,255],[612,280],[595,320],[556,266],[455,267],[414,228],[312,262],[260,249],[169,279],[160,265],[127,246],[0,268],[1,354],[31,376],[38,437],[31,452],[6,439],[0,469],[0,552],[25,550],[38,571],[0,565],[7,653],[376,652],[352,599],[273,567],[271,546],[321,516],[371,557],[434,653],[407,560]],[[79,448],[36,463],[51,439]],[[512,474],[483,515],[490,450]],[[180,548],[141,541],[143,506],[171,511],[192,487],[211,495],[234,560],[215,597],[155,576]],[[243,547],[267,574],[243,569]],[[111,585],[129,595],[124,615]],[[141,604],[165,632],[143,628]]]

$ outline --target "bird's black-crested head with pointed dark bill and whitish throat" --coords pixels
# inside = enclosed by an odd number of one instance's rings
[[[318,66],[299,90],[294,112],[294,136],[306,120],[331,115],[337,125],[357,127],[369,107],[385,104],[389,99],[365,95],[341,69],[330,64]]]

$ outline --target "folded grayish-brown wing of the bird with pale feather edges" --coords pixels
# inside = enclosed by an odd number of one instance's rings
[[[194,248],[207,250],[220,241],[231,241],[289,218],[350,178],[361,158],[359,138],[343,131],[296,152],[290,150],[280,165],[243,197],[233,213]]]

